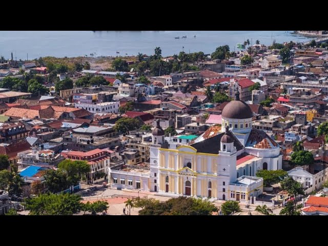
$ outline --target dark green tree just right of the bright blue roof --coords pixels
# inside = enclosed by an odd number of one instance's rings
[[[61,169],[47,170],[45,179],[46,186],[52,193],[58,193],[69,188],[67,174]]]

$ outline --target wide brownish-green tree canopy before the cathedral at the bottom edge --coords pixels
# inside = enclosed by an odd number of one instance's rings
[[[210,201],[182,196],[165,202],[147,199],[139,201],[138,206],[142,206],[139,215],[212,215],[217,211]]]

